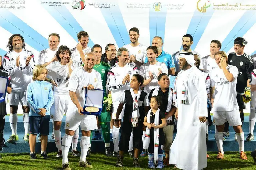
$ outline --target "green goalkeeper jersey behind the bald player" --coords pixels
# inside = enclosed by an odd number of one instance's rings
[[[108,70],[110,69],[110,66],[107,63],[101,61],[100,64],[95,64],[93,68],[94,70],[98,71],[101,75],[102,87],[104,90],[104,97],[106,97],[107,96],[107,92],[106,92],[107,74],[108,74]]]

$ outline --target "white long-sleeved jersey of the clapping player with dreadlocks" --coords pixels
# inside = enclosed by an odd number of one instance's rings
[[[20,56],[20,66],[16,66],[16,58]],[[31,60],[26,66],[26,58],[31,56]],[[31,51],[23,49],[17,53],[10,51],[3,57],[3,71],[11,77],[12,92],[22,92],[27,90],[27,85],[32,81],[32,72],[35,67],[34,55]]]

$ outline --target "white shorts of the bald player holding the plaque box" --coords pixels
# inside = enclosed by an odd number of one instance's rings
[[[91,119],[79,119],[74,116],[66,116],[65,129],[75,131],[79,126],[81,130],[84,131],[98,129],[96,116]]]

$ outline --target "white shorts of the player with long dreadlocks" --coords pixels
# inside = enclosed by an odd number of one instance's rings
[[[19,103],[22,106],[27,106],[26,91],[12,92],[11,94],[8,94],[7,105],[18,106]]]

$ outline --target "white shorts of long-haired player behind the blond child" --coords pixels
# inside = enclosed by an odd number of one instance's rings
[[[64,113],[67,114],[70,97],[69,95],[54,94],[54,102],[50,108],[51,119],[54,121],[61,121]]]

